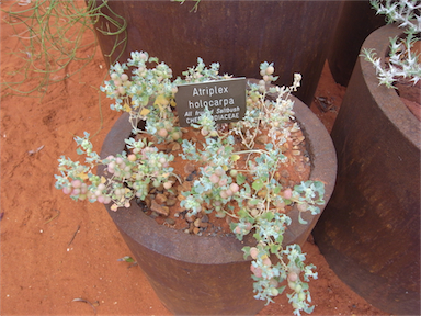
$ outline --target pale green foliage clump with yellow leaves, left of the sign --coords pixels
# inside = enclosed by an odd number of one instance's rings
[[[156,66],[148,68],[149,64]],[[132,69],[130,78],[125,74],[128,69]],[[219,64],[212,64],[210,68],[207,68],[202,58],[197,58],[197,66],[183,72],[184,79],[177,78],[171,81],[171,68],[164,63],[159,63],[158,58],[149,57],[146,52],[133,52],[126,64],[116,63],[112,66],[110,75],[111,80],[105,81],[101,91],[115,100],[111,109],[130,114],[134,133],[145,133],[137,126],[140,121],[146,121],[146,132],[157,135],[158,142],[181,138],[175,136],[181,134],[171,109],[175,104],[178,84],[230,78],[219,75]],[[162,134],[159,131],[162,131]]]

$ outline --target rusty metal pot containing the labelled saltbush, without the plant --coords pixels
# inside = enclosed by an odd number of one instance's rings
[[[310,179],[326,183],[325,201],[333,191],[337,161],[328,132],[315,114],[295,100],[297,121],[307,137],[312,168]],[[123,114],[103,144],[101,157],[121,153],[130,135],[128,115]],[[99,174],[104,174],[103,169]],[[136,203],[113,212],[105,206],[138,264],[163,305],[177,315],[253,315],[263,301],[253,298],[250,261],[243,259],[243,242],[235,237],[201,237],[158,225]],[[322,210],[325,205],[320,208]],[[285,244],[303,245],[319,217],[304,214],[307,225],[298,223],[298,211],[289,213],[293,224]]]

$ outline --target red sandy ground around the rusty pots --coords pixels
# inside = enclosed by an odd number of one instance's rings
[[[21,61],[9,55],[18,42],[3,21],[1,26],[1,74],[8,81]],[[77,158],[72,136],[89,132],[99,150],[118,116],[104,95],[99,100],[105,74],[96,52],[80,75],[50,84],[42,101],[2,93],[1,315],[171,315],[139,267],[117,261],[130,251],[105,208],[73,202],[54,188],[57,159]],[[326,113],[311,108],[329,131],[343,93],[325,67],[316,97],[332,106]],[[319,273],[310,283],[312,315],[385,314],[342,283],[310,240],[304,251]],[[280,297],[259,315],[292,312]]]

